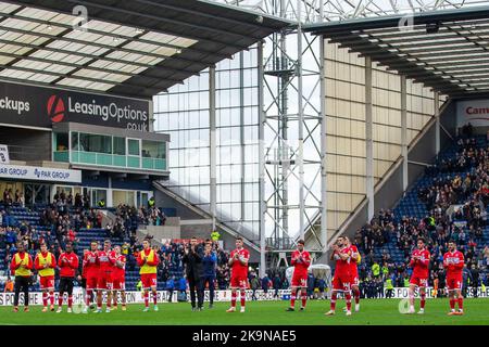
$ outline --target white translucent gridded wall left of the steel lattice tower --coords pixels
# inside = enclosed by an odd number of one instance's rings
[[[259,239],[259,157],[243,156],[242,147],[258,149],[256,55],[258,50],[252,47],[216,65],[218,216],[252,240]],[[154,119],[155,131],[170,133],[172,139],[172,174],[165,185],[209,211],[209,72],[154,97]],[[246,130],[241,131],[243,126]],[[247,198],[249,194],[251,201]]]

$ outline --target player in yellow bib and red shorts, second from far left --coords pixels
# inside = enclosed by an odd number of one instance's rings
[[[48,311],[48,293],[50,300],[50,310],[54,311],[54,269],[57,258],[51,252],[48,252],[46,243],[41,243],[40,252],[36,255],[34,267],[39,273],[40,288],[42,291],[42,312]]]

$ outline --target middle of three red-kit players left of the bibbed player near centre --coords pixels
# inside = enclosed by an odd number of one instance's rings
[[[111,241],[103,242],[103,250],[97,252],[99,277],[97,281],[97,313],[102,312],[102,295],[106,292],[105,312],[111,311],[112,304],[112,271],[115,265],[115,252],[111,249]]]

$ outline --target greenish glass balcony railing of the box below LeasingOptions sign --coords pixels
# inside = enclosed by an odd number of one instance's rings
[[[70,163],[70,152],[68,151],[54,152],[53,158],[54,162]],[[161,170],[161,171],[167,169],[166,159],[96,153],[96,152],[83,152],[83,151],[72,151],[71,163]]]

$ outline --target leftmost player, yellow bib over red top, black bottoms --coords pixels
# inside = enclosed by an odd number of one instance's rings
[[[18,296],[24,293],[24,311],[29,311],[29,285],[33,272],[33,258],[25,252],[24,244],[17,244],[17,253],[12,257],[10,271],[15,277],[14,312],[18,312]]]

